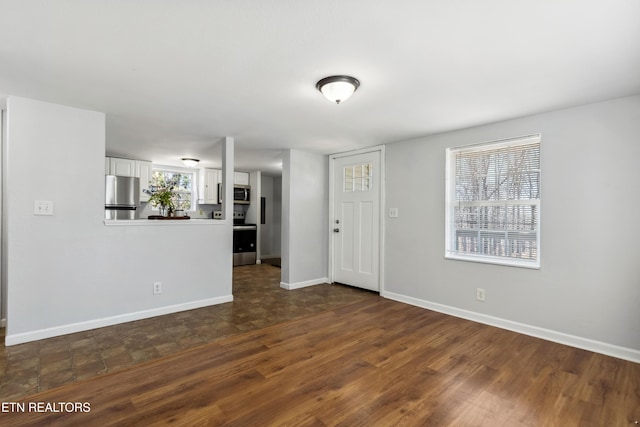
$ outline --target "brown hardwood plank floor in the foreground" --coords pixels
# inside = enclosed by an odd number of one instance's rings
[[[0,424],[631,426],[640,365],[369,298],[22,402],[90,412]]]

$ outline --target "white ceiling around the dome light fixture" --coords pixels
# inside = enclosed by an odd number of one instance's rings
[[[315,89],[349,74],[333,105]],[[278,174],[640,93],[638,0],[0,0],[0,94],[103,111],[110,155]]]

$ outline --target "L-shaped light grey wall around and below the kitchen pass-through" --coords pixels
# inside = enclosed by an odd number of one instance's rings
[[[105,226],[104,114],[10,97],[7,122],[7,344],[232,298],[230,222]]]

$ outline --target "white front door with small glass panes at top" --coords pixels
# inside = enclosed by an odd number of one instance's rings
[[[380,151],[333,156],[333,281],[380,290]]]

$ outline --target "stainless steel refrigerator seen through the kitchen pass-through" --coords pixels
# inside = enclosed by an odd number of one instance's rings
[[[106,175],[106,219],[140,218],[140,178]]]

